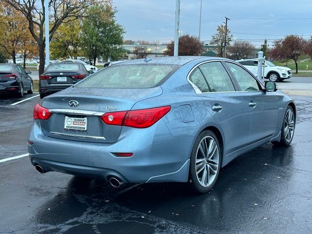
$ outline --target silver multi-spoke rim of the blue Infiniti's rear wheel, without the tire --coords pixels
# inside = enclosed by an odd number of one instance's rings
[[[198,182],[208,187],[214,183],[219,164],[219,148],[211,136],[204,137],[197,148],[195,170]]]

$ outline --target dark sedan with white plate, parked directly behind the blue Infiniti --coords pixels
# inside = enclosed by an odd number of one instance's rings
[[[58,62],[49,64],[39,79],[40,98],[76,84],[89,73],[82,63]]]

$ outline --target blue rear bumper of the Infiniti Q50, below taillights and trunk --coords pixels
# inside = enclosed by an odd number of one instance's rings
[[[139,133],[138,133],[139,131]],[[124,182],[186,182],[193,137],[173,137],[163,120],[147,129],[123,127],[115,143],[93,143],[45,136],[34,121],[28,140],[33,165],[71,175],[117,176]],[[117,157],[113,153],[133,153]]]

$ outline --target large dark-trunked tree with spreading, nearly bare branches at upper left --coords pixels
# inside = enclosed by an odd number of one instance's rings
[[[88,6],[94,5],[98,0],[49,0],[50,27],[49,39],[61,23],[67,23],[81,17]],[[39,75],[44,71],[44,0],[0,0],[7,2],[28,21],[28,29],[39,46]]]

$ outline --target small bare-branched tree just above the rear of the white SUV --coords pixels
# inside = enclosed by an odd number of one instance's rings
[[[232,59],[246,59],[254,53],[255,47],[249,41],[234,41],[233,45],[229,47],[228,52]]]

